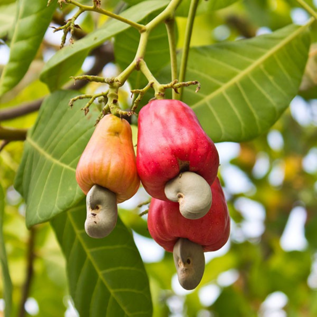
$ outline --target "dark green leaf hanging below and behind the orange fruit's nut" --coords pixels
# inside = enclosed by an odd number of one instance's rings
[[[109,236],[90,238],[85,217],[82,201],[51,221],[80,316],[152,316],[149,282],[132,234],[118,218]]]

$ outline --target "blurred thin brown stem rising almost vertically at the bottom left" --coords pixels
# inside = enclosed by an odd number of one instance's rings
[[[24,317],[25,316],[25,302],[29,297],[29,291],[30,291],[30,286],[32,282],[32,277],[34,273],[34,259],[35,259],[35,252],[34,252],[34,247],[35,247],[35,236],[36,236],[36,229],[32,227],[30,229],[29,233],[29,241],[28,241],[28,250],[27,250],[27,267],[26,267],[26,278],[25,282],[23,285],[22,289],[22,296],[20,300],[20,305],[19,305],[19,313],[18,317]]]

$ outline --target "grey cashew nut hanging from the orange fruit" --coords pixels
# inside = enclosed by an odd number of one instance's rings
[[[117,223],[117,197],[112,191],[94,185],[86,197],[85,231],[92,238],[108,236]]]

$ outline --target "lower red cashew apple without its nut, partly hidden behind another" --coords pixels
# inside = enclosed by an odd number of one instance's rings
[[[212,205],[200,219],[186,219],[179,212],[178,203],[152,198],[147,225],[152,238],[166,251],[173,252],[178,238],[200,244],[204,252],[220,249],[228,240],[230,217],[223,191],[216,178],[211,185]]]

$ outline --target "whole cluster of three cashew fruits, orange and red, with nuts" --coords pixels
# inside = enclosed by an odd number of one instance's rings
[[[228,240],[230,218],[217,178],[219,157],[193,110],[178,100],[153,100],[139,112],[135,158],[131,128],[114,115],[100,120],[76,170],[87,194],[85,230],[107,236],[117,221],[117,203],[132,197],[141,180],[152,196],[148,229],[173,252],[183,288],[197,287],[204,252]]]

